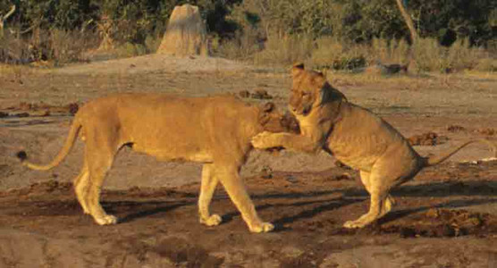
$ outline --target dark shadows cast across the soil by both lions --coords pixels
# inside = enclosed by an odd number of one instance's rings
[[[457,208],[457,207],[467,207],[472,205],[484,205],[497,203],[497,198],[477,198],[468,199],[468,197],[495,197],[497,193],[497,181],[482,181],[482,180],[470,180],[470,181],[458,181],[458,182],[434,182],[419,185],[406,185],[400,186],[392,190],[391,194],[393,197],[464,197],[453,199],[450,201],[444,201],[442,203],[433,206],[421,206],[412,207],[407,209],[396,210],[393,208],[390,214],[385,215],[378,223],[391,222],[396,219],[408,216],[409,214],[416,214],[419,212],[426,211],[432,207],[436,208]],[[340,197],[336,197],[336,194],[340,194]],[[326,198],[326,196],[333,196]],[[312,208],[299,210],[295,214],[285,215],[278,219],[273,220],[274,224],[277,226],[276,230],[284,230],[282,226],[288,225],[292,222],[298,222],[300,220],[310,219],[315,217],[317,214],[323,214],[326,212],[331,212],[333,210],[340,209],[343,206],[352,205],[358,202],[368,202],[369,195],[367,192],[358,187],[354,188],[341,188],[333,190],[322,190],[322,191],[310,191],[303,193],[271,193],[271,194],[261,194],[252,195],[252,199],[257,200],[260,203],[261,200],[268,200],[265,205],[257,205],[257,212],[262,212],[266,209],[282,210],[288,214],[291,211],[291,207],[302,207],[307,205],[312,205]],[[298,201],[293,203],[282,203],[279,204],[274,201],[277,199],[297,199]],[[316,200],[316,198],[319,198]],[[225,195],[216,196],[213,202],[229,200]],[[231,201],[230,201],[231,202]],[[110,213],[113,211],[120,211],[118,209],[120,206],[132,207],[134,213],[126,214],[120,222],[132,222],[139,218],[155,215],[155,214],[165,214],[173,211],[174,209],[181,208],[183,206],[197,205],[197,199],[192,197],[190,200],[182,201],[119,201],[119,202],[105,202],[105,209]],[[152,208],[147,208],[152,206]],[[364,212],[366,213],[366,212]],[[223,214],[223,222],[231,222],[234,217],[240,216],[238,210],[233,210]]]

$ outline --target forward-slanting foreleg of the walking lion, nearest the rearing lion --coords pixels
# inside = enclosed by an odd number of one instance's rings
[[[266,232],[274,229],[273,224],[262,222],[256,212],[256,207],[252,203],[245,189],[245,184],[240,178],[238,169],[234,167],[216,168],[215,175],[226,189],[232,202],[240,211],[241,217],[249,226],[252,232]]]

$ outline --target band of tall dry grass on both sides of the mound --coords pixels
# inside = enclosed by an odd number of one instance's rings
[[[125,58],[155,53],[160,34],[149,35],[144,44],[124,43],[105,52],[105,59]],[[88,51],[98,47],[94,32],[34,30],[29,38],[5,35],[0,39],[0,62],[30,63],[48,61],[48,65],[88,62],[94,57]],[[409,64],[410,73],[459,71],[497,71],[497,58],[481,47],[469,46],[468,39],[450,47],[440,46],[434,38],[420,38],[415,46],[403,40],[375,38],[370,44],[350,44],[338,38],[313,39],[308,35],[271,34],[265,42],[256,29],[245,29],[230,40],[210,38],[215,56],[248,61],[257,65],[288,66],[304,62],[319,70],[364,71],[377,63]],[[375,73],[377,75],[378,72]]]

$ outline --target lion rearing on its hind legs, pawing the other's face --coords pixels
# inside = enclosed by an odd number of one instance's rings
[[[357,220],[345,222],[346,228],[362,228],[387,214],[394,205],[389,194],[393,187],[411,180],[424,167],[441,163],[461,148],[483,142],[496,152],[489,140],[474,139],[447,154],[422,157],[388,122],[348,102],[325,80],[323,73],[306,71],[299,63],[291,69],[291,76],[289,109],[299,121],[300,134],[262,132],[252,138],[252,145],[309,153],[324,149],[341,163],[359,170],[371,197],[370,208]]]

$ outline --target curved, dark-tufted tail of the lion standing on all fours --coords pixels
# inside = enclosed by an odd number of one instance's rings
[[[29,163],[28,161],[26,161],[26,159],[28,159],[28,155],[26,155],[26,152],[24,151],[20,151],[19,153],[17,153],[17,157],[21,160],[21,163],[23,165],[29,167],[32,170],[37,170],[37,171],[50,170],[55,166],[57,166],[59,163],[61,163],[65,158],[65,156],[69,154],[69,152],[72,149],[72,146],[74,145],[74,141],[76,141],[76,138],[78,138],[80,129],[81,129],[81,124],[76,115],[76,118],[74,118],[74,121],[72,121],[71,129],[69,130],[69,134],[65,140],[63,148],[59,151],[59,154],[55,156],[54,160],[52,160],[52,163],[48,163],[46,165]]]

